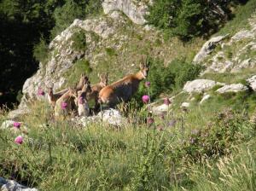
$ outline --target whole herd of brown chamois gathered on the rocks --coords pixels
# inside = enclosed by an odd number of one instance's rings
[[[88,101],[95,101],[94,113],[99,111],[100,104],[115,107],[121,101],[129,101],[131,96],[137,92],[139,83],[147,78],[147,75],[147,60],[142,60],[139,72],[126,75],[113,84],[108,84],[108,73],[98,74],[100,82],[93,85],[90,84],[89,78],[82,74],[74,88],[69,87],[54,93],[53,88],[48,87],[48,101],[54,108],[55,117],[71,113],[79,116],[89,116]]]

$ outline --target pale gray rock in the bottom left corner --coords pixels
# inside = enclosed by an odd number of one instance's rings
[[[6,180],[0,177],[0,190],[1,191],[38,191],[36,188],[27,188],[18,182]]]

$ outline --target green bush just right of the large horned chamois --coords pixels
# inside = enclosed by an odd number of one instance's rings
[[[137,101],[141,101],[141,97],[148,94],[148,91],[151,100],[154,100],[161,93],[180,89],[187,81],[195,79],[203,69],[201,65],[194,65],[184,59],[174,60],[168,67],[164,66],[163,61],[150,59],[149,66],[146,80],[150,82],[150,87],[147,90],[143,83],[140,84],[136,95]]]

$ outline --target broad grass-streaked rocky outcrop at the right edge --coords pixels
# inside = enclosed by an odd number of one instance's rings
[[[207,58],[207,43],[195,56],[195,61],[205,61],[205,72],[241,72],[256,66],[256,17],[249,19],[250,28],[236,32],[229,41],[221,43],[218,51]],[[205,47],[206,46],[206,47]]]

